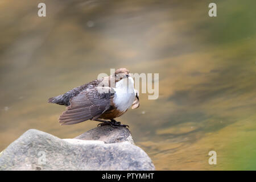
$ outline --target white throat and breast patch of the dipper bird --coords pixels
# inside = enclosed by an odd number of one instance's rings
[[[115,83],[114,105],[119,111],[127,110],[135,100],[133,78],[124,78]]]

